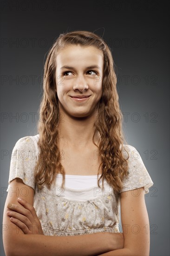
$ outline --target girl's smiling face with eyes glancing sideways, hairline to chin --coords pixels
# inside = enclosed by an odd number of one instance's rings
[[[95,47],[69,45],[56,58],[59,112],[72,117],[93,115],[102,96],[104,57]]]

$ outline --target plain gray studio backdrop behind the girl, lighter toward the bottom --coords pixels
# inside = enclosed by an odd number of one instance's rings
[[[60,33],[96,30],[112,48],[126,139],[139,151],[154,182],[145,195],[150,256],[170,255],[169,1],[14,0],[0,4],[0,222],[12,149],[21,137],[37,134],[46,53]],[[0,256],[4,255],[1,243]]]

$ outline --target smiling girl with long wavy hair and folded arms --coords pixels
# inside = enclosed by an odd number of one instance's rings
[[[153,182],[123,144],[116,82],[102,38],[60,34],[46,59],[39,134],[13,148],[6,255],[149,255],[144,194]]]

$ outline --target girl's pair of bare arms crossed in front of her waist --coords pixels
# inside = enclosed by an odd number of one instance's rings
[[[15,178],[10,183],[13,191],[16,188],[22,189],[23,185],[26,187],[26,184],[19,178]],[[148,232],[146,233],[146,228],[144,228],[146,225],[149,227],[149,218],[144,201],[144,187],[135,190],[134,193],[131,193],[131,190],[121,193],[123,234],[110,234],[109,232],[103,234],[101,232],[81,236],[44,236],[43,231],[40,233],[42,229],[38,229],[37,233],[35,232],[34,234],[31,234],[31,231],[25,234],[19,228],[21,223],[17,220],[19,213],[17,213],[16,206],[20,206],[20,209],[22,208],[21,211],[26,210],[26,206],[24,207],[24,204],[19,203],[18,196],[15,193],[10,197],[8,192],[4,208],[3,226],[12,228],[3,229],[3,243],[6,256],[149,256],[150,231],[147,229]],[[38,226],[40,222],[33,213],[33,197],[34,191],[32,189],[32,193],[30,192],[24,199],[28,203],[27,205],[32,207],[27,207],[32,211],[30,218],[33,221],[36,220]],[[7,215],[7,211],[10,210],[7,208],[9,202],[15,208],[12,209],[12,215],[10,216]],[[10,220],[10,217],[14,216],[13,214],[16,217],[15,221]],[[16,230],[20,230],[20,232],[16,234]]]

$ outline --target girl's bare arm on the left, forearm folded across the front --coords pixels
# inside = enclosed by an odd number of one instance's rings
[[[114,245],[113,236],[109,233],[85,234],[81,236],[24,234],[16,224],[10,221],[10,217],[7,215],[7,210],[9,210],[7,205],[9,202],[24,207],[17,200],[19,196],[23,197],[23,188],[29,191],[24,196],[24,199],[33,206],[34,190],[24,184],[21,179],[15,178],[10,183],[3,215],[3,243],[6,256],[91,256],[105,253],[117,246]]]

